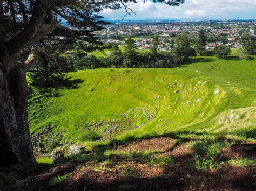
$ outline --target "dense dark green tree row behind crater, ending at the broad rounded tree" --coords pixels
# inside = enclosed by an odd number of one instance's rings
[[[167,67],[187,61],[191,56],[196,56],[196,51],[191,46],[191,37],[184,32],[178,35],[171,51],[158,52],[158,37],[154,37],[150,51],[137,52],[137,46],[132,38],[125,40],[124,50],[121,51],[117,44],[113,44],[112,52],[106,58],[96,58],[94,55],[78,53],[66,56],[68,70],[93,69],[99,67]]]

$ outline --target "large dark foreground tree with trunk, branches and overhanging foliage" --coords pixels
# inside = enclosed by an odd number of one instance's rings
[[[132,10],[123,1],[0,0],[0,166],[34,163],[26,110],[26,72],[39,62],[57,66],[51,44],[93,41],[104,22],[102,9]],[[161,2],[153,1],[153,2]],[[177,6],[184,0],[165,3]]]

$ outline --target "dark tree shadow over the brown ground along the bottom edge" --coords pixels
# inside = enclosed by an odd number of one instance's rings
[[[179,159],[187,159],[186,154]],[[44,166],[41,172],[31,172],[35,175],[33,181],[28,181],[26,190],[170,190],[170,189],[241,189],[255,190],[253,169],[230,167],[225,169],[198,170],[194,166],[179,165],[175,159],[174,165],[159,165],[154,172],[152,166],[143,161],[113,161],[109,169],[98,170],[91,165],[74,161],[68,165]],[[138,167],[138,168],[137,168]],[[44,169],[44,171],[43,171]],[[141,176],[142,172],[144,175]],[[145,175],[145,172],[148,175]],[[68,174],[68,178],[52,185],[56,176]],[[152,174],[152,175],[150,175]],[[152,177],[151,177],[152,176]],[[126,188],[126,189],[123,189]]]

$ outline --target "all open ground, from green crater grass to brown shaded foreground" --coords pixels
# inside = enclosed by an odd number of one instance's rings
[[[4,188],[255,190],[255,64],[198,56],[68,73],[70,88],[44,95],[31,87],[32,140],[62,143],[64,157],[36,155],[39,165],[4,173]],[[74,145],[83,151],[70,155]]]

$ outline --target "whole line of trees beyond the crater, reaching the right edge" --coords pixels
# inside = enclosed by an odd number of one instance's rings
[[[112,47],[110,47],[110,44],[101,46],[102,48],[112,48],[111,54],[106,58],[96,58],[96,56],[87,55],[84,52],[68,55],[66,56],[66,65],[62,68],[65,72],[69,72],[100,67],[168,67],[178,65],[188,61],[191,56],[204,55],[207,37],[205,30],[200,30],[196,43],[193,43],[190,34],[183,32],[167,42],[171,44],[172,49],[170,51],[162,52],[158,52],[158,36],[153,37],[150,50],[145,53],[137,52],[135,43],[136,41],[132,38],[127,38],[123,51],[117,44],[113,44]],[[255,41],[246,41],[244,47],[239,49],[240,58],[247,59],[248,55],[255,54],[255,46]],[[231,48],[225,44],[218,45],[211,51],[211,54],[219,59],[225,59],[231,54]]]

